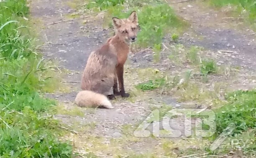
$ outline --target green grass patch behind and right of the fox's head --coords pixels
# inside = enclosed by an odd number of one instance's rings
[[[138,41],[135,43],[137,47],[146,48],[161,44],[166,34],[180,33],[187,26],[187,23],[181,20],[167,3],[148,1],[143,5],[134,5],[139,1],[128,1],[128,3],[118,3],[118,0],[113,1],[115,3],[102,8],[106,11],[104,21],[107,27],[113,27],[112,17],[128,18],[131,11],[136,10],[138,23],[141,27],[141,31],[138,33]],[[91,5],[91,3],[85,5],[87,9],[95,10],[95,8],[102,6],[100,2],[93,2],[94,5]],[[123,12],[122,10],[127,11]],[[174,36],[174,39],[176,38],[177,36]]]

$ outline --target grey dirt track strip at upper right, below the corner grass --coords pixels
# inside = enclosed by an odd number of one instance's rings
[[[190,31],[182,38],[182,43],[202,46],[215,52],[236,51],[238,56],[224,62],[256,69],[256,35],[250,35],[253,31],[248,26],[238,20],[226,19],[230,16],[225,11],[209,9],[200,0],[178,3],[181,1],[169,0],[176,12],[192,24]]]

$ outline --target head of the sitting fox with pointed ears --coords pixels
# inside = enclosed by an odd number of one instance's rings
[[[113,17],[112,20],[115,34],[118,35],[121,40],[124,40],[125,43],[136,41],[137,33],[140,29],[136,11],[133,11],[127,19]]]

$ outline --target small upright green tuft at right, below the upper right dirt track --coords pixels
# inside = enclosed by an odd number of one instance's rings
[[[216,72],[216,63],[212,59],[202,60],[200,69],[202,74],[214,74]]]

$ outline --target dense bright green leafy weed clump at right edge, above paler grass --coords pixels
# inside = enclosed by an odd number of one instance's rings
[[[220,134],[230,123],[236,128],[232,135],[256,127],[256,91],[236,91],[226,95],[228,103],[216,110],[217,131]]]

